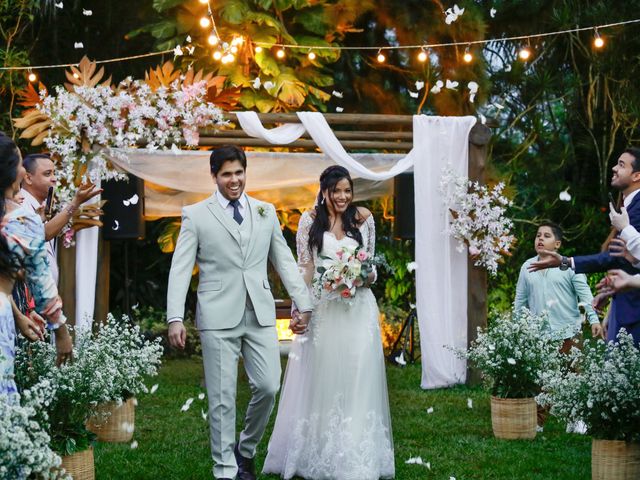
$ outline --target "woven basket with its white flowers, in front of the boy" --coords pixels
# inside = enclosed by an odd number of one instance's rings
[[[527,310],[492,319],[469,349],[458,352],[475,364],[491,391],[491,424],[497,438],[534,438],[535,396],[542,374],[560,365],[558,344],[545,332],[546,317]]]

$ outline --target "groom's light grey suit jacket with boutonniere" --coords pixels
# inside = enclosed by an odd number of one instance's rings
[[[194,264],[198,265],[199,330],[237,326],[244,315],[247,295],[258,323],[275,325],[275,303],[267,278],[267,260],[280,275],[300,310],[311,310],[307,286],[289,249],[276,210],[270,203],[248,197],[252,234],[246,251],[239,225],[222,208],[215,195],[184,207],[167,291],[167,319],[184,318],[185,300]]]

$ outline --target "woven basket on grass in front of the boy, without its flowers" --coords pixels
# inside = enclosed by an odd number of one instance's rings
[[[496,438],[507,440],[535,438],[536,400],[491,397],[491,426]]]

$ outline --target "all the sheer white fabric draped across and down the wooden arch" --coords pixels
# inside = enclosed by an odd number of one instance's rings
[[[464,382],[466,362],[447,347],[467,346],[467,257],[444,235],[448,212],[439,182],[450,166],[466,175],[469,132],[474,117],[413,117],[413,149],[406,156],[354,154],[342,147],[317,112],[299,112],[301,124],[268,130],[254,112],[238,112],[238,121],[251,136],[274,144],[295,141],[304,132],[322,154],[247,152],[246,190],[285,207],[313,205],[317,181],[327,166],[344,166],[356,181],[356,200],[388,194],[389,179],[414,169],[416,216],[416,297],[422,347],[422,388]],[[145,180],[145,214],[178,216],[183,205],[210,195],[213,189],[206,151],[129,150],[126,159],[112,158],[117,167]],[[77,324],[92,316],[95,301],[97,229],[77,238]]]

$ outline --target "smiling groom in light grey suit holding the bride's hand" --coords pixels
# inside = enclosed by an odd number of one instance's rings
[[[253,457],[280,387],[280,352],[267,260],[302,313],[291,321],[305,331],[312,308],[273,205],[244,193],[247,160],[235,146],[209,160],[217,191],[182,210],[182,228],[167,292],[169,343],[184,348],[185,297],[194,264],[200,277],[196,325],[209,397],[211,456],[217,479],[253,480]],[[251,385],[245,427],[236,443],[236,384],[242,355]]]

